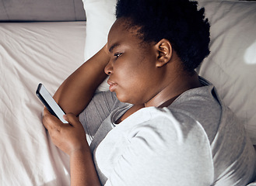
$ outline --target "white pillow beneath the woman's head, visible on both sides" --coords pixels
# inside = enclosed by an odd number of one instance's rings
[[[87,16],[85,57],[107,42],[114,22],[116,0],[84,0]],[[211,23],[211,54],[199,74],[216,85],[219,95],[240,120],[256,144],[256,2],[204,1]],[[106,83],[100,91],[106,91]]]

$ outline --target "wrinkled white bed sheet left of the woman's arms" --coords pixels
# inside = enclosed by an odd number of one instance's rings
[[[0,23],[0,185],[69,185],[68,157],[41,122],[51,94],[84,59],[85,22]]]

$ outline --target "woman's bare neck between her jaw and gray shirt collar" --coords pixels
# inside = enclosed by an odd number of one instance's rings
[[[184,91],[201,86],[196,72],[192,75],[179,74],[172,78],[172,81],[167,82],[167,85],[163,86],[149,102],[146,102],[145,107],[167,107]]]

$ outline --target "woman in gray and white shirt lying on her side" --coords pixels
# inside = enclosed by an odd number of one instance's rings
[[[256,157],[244,127],[194,71],[209,55],[204,10],[120,0],[116,16],[107,45],[54,95],[69,124],[44,109],[51,139],[70,157],[71,184],[250,182]],[[107,75],[110,91],[95,94]]]

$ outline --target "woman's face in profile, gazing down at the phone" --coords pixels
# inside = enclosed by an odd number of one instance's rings
[[[163,71],[156,67],[154,43],[142,44],[136,29],[127,29],[125,19],[117,19],[110,29],[107,48],[110,62],[105,67],[110,91],[121,102],[144,104],[160,92]]]

